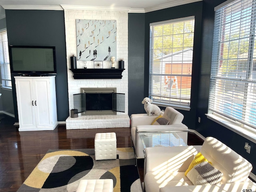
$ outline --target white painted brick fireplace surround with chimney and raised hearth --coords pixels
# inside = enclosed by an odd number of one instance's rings
[[[81,88],[116,88],[117,93],[125,94],[124,113],[103,115],[78,114],[78,118],[66,119],[67,129],[119,128],[130,127],[128,116],[128,10],[70,10],[64,8],[69,111],[74,109],[74,94],[80,94]],[[70,56],[76,53],[76,19],[116,20],[117,22],[117,58],[114,66],[118,68],[118,58],[124,58],[125,70],[121,79],[74,79],[70,71]],[[93,61],[87,61],[87,68],[94,68]],[[84,62],[77,61],[77,68],[83,68]],[[111,68],[110,61],[103,61],[103,68]]]

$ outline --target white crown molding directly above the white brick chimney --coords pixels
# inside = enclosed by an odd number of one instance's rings
[[[80,5],[60,5],[64,10],[94,10],[94,11],[123,11],[128,12],[129,7],[103,7],[103,6],[80,6]]]

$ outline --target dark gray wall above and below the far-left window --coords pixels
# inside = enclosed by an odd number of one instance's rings
[[[0,30],[6,28],[6,18],[0,19]],[[0,73],[0,79],[1,73]],[[14,116],[14,106],[12,100],[12,89],[0,88],[2,96],[0,98],[0,111],[6,112],[11,116]]]

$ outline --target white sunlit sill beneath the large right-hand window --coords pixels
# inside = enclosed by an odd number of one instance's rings
[[[256,134],[254,132],[244,129],[244,128],[238,126],[237,124],[229,122],[229,121],[227,121],[223,118],[220,118],[214,114],[206,114],[206,116],[208,119],[213,120],[214,122],[228,128],[229,130],[234,131],[235,133],[250,140],[251,142],[256,143]]]

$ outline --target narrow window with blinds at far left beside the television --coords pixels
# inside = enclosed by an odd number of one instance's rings
[[[8,52],[7,31],[0,31],[0,64],[2,75],[2,86],[12,88],[10,61]]]

